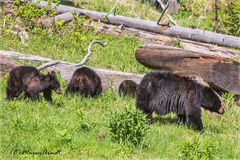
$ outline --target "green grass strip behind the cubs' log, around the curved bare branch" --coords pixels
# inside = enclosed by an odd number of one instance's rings
[[[0,48],[77,63],[87,54],[87,47],[92,40],[101,40],[107,42],[107,46],[103,48],[95,45],[93,55],[86,65],[140,73],[148,70],[134,58],[136,48],[142,44],[136,38],[127,36],[116,38],[96,34],[91,30],[79,33],[69,29],[68,26],[63,27],[62,32],[62,34],[30,33],[27,46],[23,46],[18,37],[6,33],[0,37]]]

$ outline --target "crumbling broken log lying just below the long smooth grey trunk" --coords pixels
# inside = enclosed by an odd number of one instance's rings
[[[55,16],[51,19],[51,23],[53,24],[54,21],[61,20],[64,23],[69,22],[73,19],[73,15],[71,12],[66,12],[60,15]],[[83,24],[85,25],[85,23]],[[140,40],[143,40],[146,43],[156,43],[156,44],[162,44],[162,45],[170,45],[174,46],[177,41],[181,44],[183,49],[189,50],[189,51],[195,51],[205,54],[213,54],[224,58],[239,58],[240,57],[240,51],[233,50],[233,49],[226,49],[223,47],[219,47],[212,44],[207,43],[201,43],[201,42],[194,42],[190,40],[185,39],[177,39],[175,37],[169,37],[161,34],[156,34],[152,32],[142,31],[139,29],[133,29],[133,28],[121,28],[118,26],[113,26],[109,24],[95,24],[95,22],[88,22],[86,26],[91,26],[95,28],[97,32],[105,33],[105,34],[113,34],[116,36],[119,36],[121,33],[125,35],[133,35]]]

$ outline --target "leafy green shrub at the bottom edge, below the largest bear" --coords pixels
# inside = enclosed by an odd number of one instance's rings
[[[199,138],[195,138],[191,142],[183,143],[180,158],[188,160],[214,159],[216,151],[217,148],[211,140],[205,139],[201,142]]]

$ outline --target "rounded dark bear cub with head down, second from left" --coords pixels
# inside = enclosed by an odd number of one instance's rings
[[[92,69],[87,67],[78,68],[68,83],[66,93],[75,93],[83,97],[95,97],[102,92],[100,77]]]

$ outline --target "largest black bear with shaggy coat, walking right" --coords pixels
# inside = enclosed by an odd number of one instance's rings
[[[211,88],[168,72],[150,72],[144,76],[137,91],[136,107],[150,120],[154,111],[159,115],[174,112],[199,131],[203,129],[201,107],[224,113],[218,95]]]

